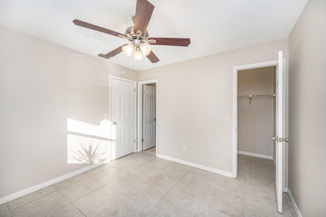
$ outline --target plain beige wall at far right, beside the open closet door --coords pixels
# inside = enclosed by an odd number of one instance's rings
[[[326,216],[326,1],[310,0],[289,37],[289,190]]]

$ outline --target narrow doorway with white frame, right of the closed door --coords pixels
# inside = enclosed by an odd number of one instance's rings
[[[158,80],[139,82],[138,89],[138,151],[157,156]]]

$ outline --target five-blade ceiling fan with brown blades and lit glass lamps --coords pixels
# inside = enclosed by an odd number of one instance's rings
[[[81,20],[73,20],[73,23],[82,27],[90,28],[97,30],[102,33],[109,35],[117,36],[123,39],[128,39],[131,43],[124,44],[115,50],[107,54],[98,54],[98,56],[103,58],[111,58],[120,52],[124,52],[127,55],[130,55],[133,49],[135,50],[134,59],[143,59],[143,55],[152,63],[157,63],[159,59],[151,51],[151,47],[145,45],[144,43],[149,43],[151,45],[170,45],[170,46],[183,46],[187,47],[190,44],[190,39],[185,38],[149,38],[147,31],[147,26],[149,20],[152,16],[154,6],[146,0],[137,0],[136,13],[132,16],[132,21],[134,26],[130,26],[126,29],[125,34],[117,33],[113,30],[106,29],[97,25],[93,25]]]

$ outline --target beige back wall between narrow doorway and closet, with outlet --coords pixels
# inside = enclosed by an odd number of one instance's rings
[[[280,50],[287,59],[288,39],[139,72],[139,81],[158,79],[158,154],[231,173],[232,69]]]

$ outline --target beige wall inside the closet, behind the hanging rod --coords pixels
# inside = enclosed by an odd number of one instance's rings
[[[238,71],[238,95],[275,94],[274,77],[275,67]],[[274,100],[238,98],[238,151],[274,156]]]

